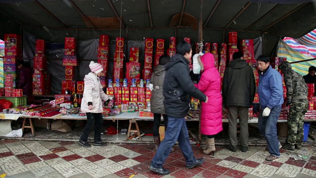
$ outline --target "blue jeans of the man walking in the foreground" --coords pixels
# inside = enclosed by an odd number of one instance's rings
[[[184,118],[174,118],[168,116],[168,126],[164,134],[164,139],[160,143],[158,150],[151,164],[154,168],[162,168],[162,164],[166,161],[172,146],[179,141],[179,146],[184,158],[186,166],[192,166],[197,161],[193,155],[190,144],[187,124]]]

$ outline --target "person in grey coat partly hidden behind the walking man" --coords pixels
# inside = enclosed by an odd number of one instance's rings
[[[170,57],[167,55],[162,55],[159,58],[159,65],[155,67],[154,73],[152,75],[150,81],[150,89],[152,90],[152,96],[150,98],[150,109],[151,112],[154,113],[154,126],[153,126],[153,133],[154,133],[154,142],[155,148],[154,151],[156,152],[158,146],[160,144],[160,136],[159,136],[159,125],[161,120],[161,114],[163,115],[163,123],[164,128],[167,128],[168,125],[168,117],[164,112],[163,106],[163,81],[164,76],[166,73],[165,64],[170,61]],[[174,151],[174,148],[171,149],[171,152]]]

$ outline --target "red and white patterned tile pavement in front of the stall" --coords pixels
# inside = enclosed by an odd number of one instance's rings
[[[76,142],[0,140],[0,178],[161,178],[149,170],[153,145],[109,144],[80,147]],[[170,175],[164,178],[310,178],[316,177],[315,147],[293,152],[281,150],[281,159],[265,161],[265,147],[247,153],[217,147],[205,163],[185,169],[178,146],[166,160]]]

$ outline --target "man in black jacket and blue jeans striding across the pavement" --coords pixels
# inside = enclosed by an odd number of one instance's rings
[[[184,117],[189,111],[190,96],[201,102],[207,102],[208,99],[194,86],[190,78],[188,64],[192,56],[191,45],[183,41],[177,45],[176,52],[176,55],[165,66],[166,74],[163,83],[164,110],[168,116],[168,126],[150,166],[150,169],[159,175],[169,174],[169,170],[162,168],[162,164],[177,140],[186,159],[187,169],[195,168],[204,162],[204,158],[196,159],[193,155]]]

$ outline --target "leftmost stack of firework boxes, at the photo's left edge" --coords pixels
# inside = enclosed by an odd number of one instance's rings
[[[3,77],[4,96],[12,96],[17,86],[19,75],[16,62],[22,57],[22,37],[17,34],[4,34]],[[1,93],[3,95],[3,93]]]

